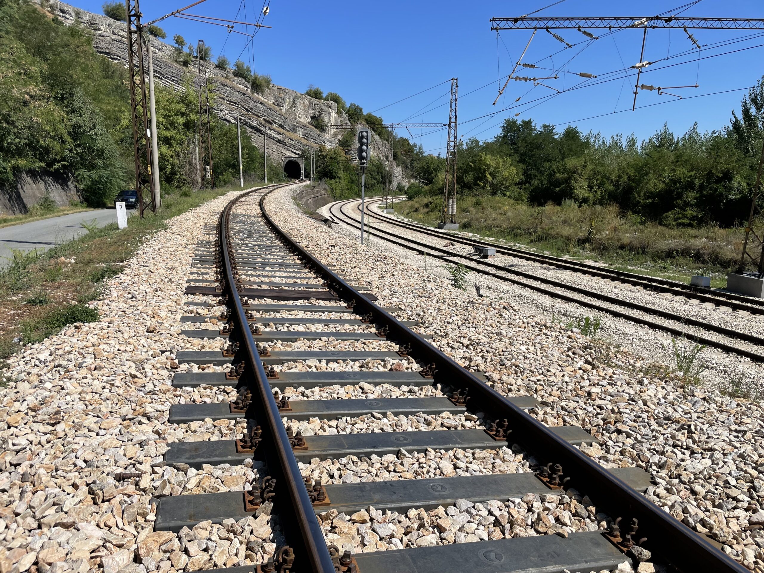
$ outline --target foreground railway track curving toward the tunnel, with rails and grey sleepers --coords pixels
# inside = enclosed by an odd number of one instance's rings
[[[202,328],[210,326],[203,316],[183,317],[184,324],[196,327],[183,334],[189,340],[227,341],[224,351],[177,352],[178,363],[195,364],[202,371],[176,373],[173,386],[210,385],[220,390],[221,401],[176,404],[169,413],[169,422],[178,423],[243,419],[247,429],[236,440],[172,443],[164,455],[167,465],[190,468],[243,465],[254,459],[258,479],[248,491],[160,497],[155,500],[155,530],[177,532],[209,520],[228,523],[235,531],[231,520],[277,516],[283,542],[274,555],[256,566],[218,570],[226,573],[602,571],[616,569],[632,555],[645,555],[643,549],[652,552],[653,561],[680,571],[746,571],[706,538],[646,500],[641,492],[649,487],[649,474],[639,468],[603,468],[577,447],[596,442],[594,436],[575,426],[544,426],[526,412],[539,406],[533,397],[503,396],[482,377],[448,358],[413,332],[409,323],[396,319],[396,309],[377,306],[373,294],[348,284],[284,234],[264,210],[264,198],[259,192],[244,193],[225,207],[216,241],[200,241],[197,246],[194,274],[186,288],[187,295],[196,297],[189,304],[209,306],[198,299],[220,296],[225,311],[215,318],[222,322],[215,329]],[[295,312],[303,316],[295,318]],[[284,349],[285,343],[293,341],[304,348]],[[335,342],[361,349],[328,349]],[[312,349],[313,343],[324,348]],[[368,349],[380,345],[394,350]],[[287,366],[312,359],[334,362],[338,367],[293,371]],[[384,365],[384,370],[369,364]],[[209,366],[226,365],[231,367],[227,372],[209,371]],[[294,399],[289,400],[283,393],[289,387],[334,384],[364,384],[365,388],[385,384],[386,388],[408,390],[405,397],[358,400],[305,399],[304,395],[299,399],[299,393],[290,394]],[[236,388],[237,397],[226,402],[230,387]],[[422,393],[412,393],[412,388]],[[336,431],[304,436],[291,431],[294,420],[353,419],[374,413],[469,414],[474,422],[469,429],[437,431]],[[512,448],[526,471],[320,483],[304,476],[300,468],[300,463],[316,459],[346,458],[354,465],[369,465],[375,456],[406,452],[435,455],[481,450],[492,455],[490,452],[501,448]],[[557,535],[507,538],[504,533],[509,529],[494,521],[497,513],[489,513],[487,508],[503,507],[503,501],[520,498],[534,508],[538,503],[539,514],[548,511],[545,505],[552,507],[550,503],[580,500],[586,506],[583,515],[596,516],[594,523],[602,526],[582,531],[558,525],[546,530]],[[421,510],[419,513],[425,512],[422,527],[432,526],[438,533],[431,535],[445,543],[353,553],[327,539],[330,526],[335,527],[338,520],[350,524],[349,516],[366,510],[367,517],[372,514],[383,523],[384,516],[393,515],[386,512],[413,510],[416,514]],[[440,516],[458,522],[462,515],[487,520],[484,530],[491,531],[490,539],[474,536],[474,542],[458,543],[453,535],[448,538],[448,527]],[[575,523],[580,526],[582,520]],[[364,525],[367,520],[358,521]],[[387,530],[392,535],[393,528]],[[378,538],[383,537],[380,529],[377,532]],[[636,568],[636,562],[634,565]]]

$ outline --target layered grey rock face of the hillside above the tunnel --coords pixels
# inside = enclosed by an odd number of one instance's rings
[[[127,66],[127,31],[124,22],[118,22],[103,15],[84,11],[57,0],[41,0],[43,9],[51,16],[60,18],[65,24],[79,22],[84,28],[92,31],[95,50],[108,57],[109,60]],[[193,68],[184,67],[173,60],[175,48],[161,40],[153,38],[151,46],[154,49],[154,80],[173,89],[183,89],[183,75],[193,72],[193,86],[199,84],[196,80],[196,60]],[[210,86],[215,93],[213,111],[222,119],[235,123],[239,115],[241,127],[246,131],[255,145],[261,150],[264,146],[263,136],[267,136],[268,154],[275,159],[299,155],[304,147],[335,145],[345,130],[331,129],[332,125],[348,124],[348,116],[337,111],[334,102],[313,99],[292,89],[281,86],[271,86],[263,95],[251,92],[248,83],[231,75],[230,71],[219,70],[212,63],[207,63],[207,73],[212,77]],[[321,132],[310,125],[311,118],[320,116],[329,126]],[[387,159],[390,157],[390,147],[372,134],[371,153],[373,157]],[[401,170],[390,163],[393,168],[393,182],[402,179]],[[306,165],[306,174],[309,173]]]

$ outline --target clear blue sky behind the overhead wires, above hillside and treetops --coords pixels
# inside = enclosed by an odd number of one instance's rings
[[[642,139],[648,138],[664,123],[675,133],[684,133],[694,122],[698,123],[701,131],[718,129],[729,121],[730,110],[739,108],[740,99],[745,93],[743,91],[683,99],[631,112],[634,79],[623,79],[623,72],[618,70],[639,61],[643,34],[641,30],[619,31],[617,34],[594,31],[603,36],[594,41],[587,41],[576,30],[557,31],[568,44],[575,44],[572,48],[565,48],[565,44],[550,34],[539,31],[523,62],[571,73],[558,73],[558,79],[545,81],[545,86],[549,87],[534,87],[532,83],[511,81],[497,105],[491,105],[499,89],[497,76],[510,73],[531,32],[502,31],[497,40],[497,33],[490,30],[489,19],[492,16],[525,15],[553,1],[270,0],[270,14],[264,23],[273,26],[273,29],[261,29],[250,50],[244,48],[248,38],[228,34],[225,28],[177,18],[170,18],[160,25],[167,31],[168,41],[173,34],[181,34],[195,44],[196,40],[206,40],[212,46],[213,57],[224,53],[232,62],[241,54],[241,59],[252,63],[255,71],[270,74],[274,83],[280,86],[303,92],[309,84],[314,84],[324,92],[338,92],[348,103],[356,102],[364,111],[375,112],[385,121],[447,121],[447,82],[456,76],[460,95],[459,136],[465,139],[493,137],[499,131],[503,119],[512,117],[516,112],[520,112],[518,119],[532,118],[537,124],[555,124],[559,130],[571,124],[577,125],[584,133],[600,131],[609,136],[633,132]],[[565,0],[538,15],[648,16],[669,11],[684,3],[682,0],[674,2]],[[144,0],[141,4],[144,21],[180,8],[185,3],[184,0]],[[102,2],[76,0],[75,4],[86,10],[100,12]],[[207,0],[189,11],[216,18],[244,20],[246,9],[247,20],[253,21],[262,6],[259,0],[251,0],[246,5],[241,0]],[[683,15],[762,18],[762,8],[761,0],[702,0]],[[693,51],[691,41],[681,29],[649,31],[644,60],[670,58],[646,68],[639,83],[652,86],[691,86],[697,81],[697,89],[668,90],[690,97],[753,86],[764,73],[764,66],[760,65],[764,47],[716,56],[764,44],[764,32],[691,32],[703,47],[699,53],[703,60],[698,61],[698,50]],[[724,47],[709,45],[746,37],[748,39]],[[672,57],[680,53],[685,55]],[[676,63],[683,64],[672,65]],[[669,65],[672,66],[658,69]],[[573,75],[579,72],[599,77],[584,80]],[[553,71],[536,69],[522,70],[516,75],[542,77],[553,74]],[[560,95],[555,95],[552,89],[568,89],[582,81],[585,87]],[[486,84],[489,85],[478,89]],[[390,105],[425,89],[429,90]],[[554,97],[539,99],[549,95]],[[521,98],[519,106],[510,108],[517,97]],[[639,92],[636,105],[675,99],[670,95],[658,95],[656,91],[643,91]],[[390,106],[385,107],[387,105]],[[505,111],[489,118],[474,119],[502,108]],[[612,113],[623,109],[629,111]],[[584,121],[584,118],[601,114],[606,115]],[[415,136],[413,141],[421,143],[424,150],[431,153],[437,153],[445,147],[444,131],[417,128],[410,130],[410,133],[400,130],[400,134]]]

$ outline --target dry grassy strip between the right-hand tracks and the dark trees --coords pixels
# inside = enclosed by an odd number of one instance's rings
[[[404,217],[435,225],[441,198],[416,197],[394,206]],[[615,206],[533,207],[502,197],[460,198],[458,222],[464,231],[620,270],[687,283],[691,275],[704,274],[717,288],[727,284],[727,271],[740,260],[743,239],[740,228],[669,228],[638,222]]]

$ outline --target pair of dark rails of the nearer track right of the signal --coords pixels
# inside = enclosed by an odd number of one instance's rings
[[[344,211],[344,207],[349,202],[352,202],[354,200],[357,200],[357,199],[351,199],[349,201],[343,202],[339,206],[339,209],[340,209],[340,212],[342,213],[342,215],[344,215],[346,219],[350,219],[351,221],[358,222],[357,219],[353,219],[350,215],[348,215]],[[332,214],[336,215],[335,212],[332,210],[334,207],[335,206],[330,207],[330,212],[332,212]],[[360,228],[358,225],[355,225],[354,223],[345,222],[345,224],[346,225],[351,225],[354,228]],[[380,232],[385,233],[385,231],[380,231]],[[452,263],[452,264],[455,264],[455,261],[452,261],[452,259],[454,259],[454,258],[461,258],[461,259],[466,259],[467,261],[472,261],[472,259],[470,257],[467,257],[465,255],[451,253],[450,251],[447,251],[446,249],[439,248],[439,247],[434,247],[434,246],[432,246],[430,244],[422,243],[421,241],[416,241],[415,239],[403,238],[401,241],[399,241],[399,240],[397,240],[395,238],[390,238],[390,236],[380,235],[380,232],[374,231],[371,228],[367,229],[367,233],[369,235],[377,236],[379,238],[384,239],[385,241],[388,241],[388,242],[393,243],[393,244],[397,244],[400,247],[407,248],[407,249],[410,249],[411,251],[416,251],[416,252],[421,253],[421,254],[427,254],[427,255],[429,255],[431,257],[438,258],[438,259],[440,259],[442,261],[446,261],[446,262],[449,262],[449,263]],[[389,232],[387,232],[385,234],[386,235],[391,235]],[[403,241],[406,241],[406,242],[408,242],[410,244],[406,244]],[[422,251],[421,248],[413,247],[413,246],[411,246],[411,244],[416,244],[416,245],[419,245],[419,247],[429,249],[430,251],[439,251],[439,252],[444,253],[444,254],[439,255],[439,254],[433,254],[431,252]],[[681,329],[676,329],[676,328],[674,328],[672,326],[669,326],[669,325],[662,325],[659,322],[653,322],[652,320],[643,319],[643,318],[641,318],[639,316],[633,316],[633,315],[630,315],[630,314],[628,314],[626,312],[621,312],[620,310],[617,310],[617,309],[611,309],[610,307],[607,307],[607,306],[601,306],[601,305],[598,305],[598,304],[595,304],[595,303],[590,303],[590,302],[588,302],[586,300],[582,300],[582,299],[577,298],[575,296],[569,296],[569,295],[566,295],[566,294],[563,294],[563,293],[555,292],[554,290],[545,289],[542,286],[536,286],[536,285],[533,285],[533,284],[525,283],[522,280],[517,280],[517,279],[514,279],[512,277],[507,277],[507,276],[502,275],[502,274],[497,274],[495,272],[491,272],[490,270],[486,270],[485,268],[477,267],[474,264],[469,264],[469,263],[467,263],[467,264],[461,263],[461,264],[463,264],[469,270],[474,270],[477,273],[484,274],[484,275],[489,276],[489,277],[494,277],[494,278],[497,278],[499,280],[506,281],[508,283],[513,283],[513,284],[516,284],[518,286],[522,286],[523,288],[527,288],[527,289],[530,289],[530,290],[535,290],[536,292],[545,294],[547,296],[553,296],[555,298],[563,299],[563,300],[565,300],[565,301],[567,301],[569,303],[574,303],[574,304],[577,304],[579,306],[586,306],[586,307],[594,309],[594,310],[599,310],[601,312],[607,312],[610,315],[617,316],[618,318],[626,319],[629,322],[636,322],[637,324],[649,326],[649,328],[652,328],[652,329],[662,330],[664,332],[669,332],[672,335],[680,336],[682,338],[688,338],[688,339],[690,339],[690,340],[692,340],[694,342],[699,342],[699,343],[707,345],[707,346],[718,348],[720,350],[729,352],[730,354],[739,354],[740,356],[744,356],[746,358],[749,358],[749,360],[751,360],[751,361],[764,362],[764,354],[758,354],[756,352],[746,350],[745,348],[738,348],[738,347],[733,346],[733,345],[728,345],[728,344],[726,344],[724,342],[719,342],[717,340],[714,340],[713,338],[707,338],[707,337],[704,337],[704,336],[701,336],[701,335],[696,335],[696,334],[692,334],[690,332],[685,332],[685,331],[683,331]],[[598,294],[598,293],[592,293],[591,291],[586,290],[586,289],[582,289],[582,288],[580,288],[578,286],[570,286],[570,285],[566,285],[564,283],[558,283],[558,281],[551,280],[551,279],[546,279],[544,277],[537,277],[536,275],[532,275],[532,274],[523,273],[523,271],[520,271],[520,270],[506,269],[505,267],[502,267],[502,266],[494,264],[494,263],[489,263],[487,261],[486,262],[481,261],[478,264],[483,265],[484,267],[494,268],[494,269],[499,270],[499,271],[501,271],[503,273],[516,274],[516,275],[519,275],[520,277],[526,278],[528,280],[536,280],[536,282],[539,282],[539,283],[545,283],[545,284],[549,284],[550,286],[556,286],[558,288],[562,288],[562,289],[565,289],[565,290],[571,290],[571,291],[573,291],[575,293],[578,293],[578,294],[581,294],[581,295],[584,295],[584,296],[591,296],[592,298],[600,299],[600,300],[602,300],[604,302],[608,302],[608,303],[611,303],[611,304],[616,304],[618,306],[626,306],[627,308],[631,308],[631,309],[635,309],[635,310],[641,310],[642,312],[647,312],[647,313],[650,313],[650,314],[654,314],[656,316],[661,316],[662,318],[665,318],[665,319],[668,319],[668,320],[673,320],[675,322],[680,322],[680,323],[687,324],[687,325],[693,325],[693,326],[696,326],[696,327],[701,328],[701,329],[712,329],[711,327],[713,327],[715,332],[717,332],[719,334],[722,334],[722,335],[725,335],[725,336],[727,336],[729,338],[740,338],[742,340],[746,340],[747,338],[753,338],[759,344],[762,343],[761,338],[752,337],[751,335],[747,335],[747,334],[744,334],[742,332],[737,332],[737,331],[733,331],[733,330],[730,330],[730,329],[724,329],[723,327],[720,327],[720,326],[709,325],[706,322],[701,322],[701,321],[694,320],[694,319],[688,319],[688,318],[685,318],[683,316],[674,315],[671,312],[665,312],[665,311],[662,311],[662,310],[659,310],[659,309],[652,309],[652,308],[650,308],[648,306],[639,305],[637,303],[630,303],[630,302],[624,301],[622,299],[617,299],[614,296],[607,296],[607,295],[601,295],[601,294]]]

